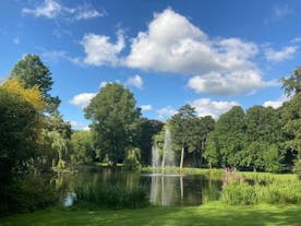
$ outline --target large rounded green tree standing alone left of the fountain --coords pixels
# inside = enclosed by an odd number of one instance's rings
[[[135,121],[140,109],[133,94],[121,84],[107,84],[85,108],[97,143],[112,165],[122,162],[125,150],[134,145]]]

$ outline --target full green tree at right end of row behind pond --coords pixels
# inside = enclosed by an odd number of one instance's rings
[[[279,147],[282,142],[278,110],[272,107],[254,106],[246,110],[248,145],[242,163],[248,167],[252,166],[254,171],[266,168],[280,170],[284,153]]]

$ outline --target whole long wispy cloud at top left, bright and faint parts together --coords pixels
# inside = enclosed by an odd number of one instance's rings
[[[45,0],[41,4],[34,9],[22,9],[23,14],[32,14],[35,17],[55,19],[59,15],[63,15],[68,19],[74,20],[88,20],[94,17],[104,16],[104,12],[95,10],[91,4],[77,5],[75,8],[69,8],[59,3],[56,0]]]

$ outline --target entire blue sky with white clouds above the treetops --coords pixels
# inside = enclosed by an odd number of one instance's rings
[[[109,82],[152,119],[184,104],[215,119],[234,105],[276,108],[279,79],[300,66],[300,11],[298,0],[2,0],[0,80],[38,55],[75,129]]]

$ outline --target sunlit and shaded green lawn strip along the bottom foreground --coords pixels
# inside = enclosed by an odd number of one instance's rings
[[[196,207],[141,210],[48,209],[0,218],[0,226],[300,226],[301,205],[229,206],[218,202]]]

